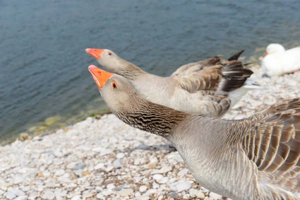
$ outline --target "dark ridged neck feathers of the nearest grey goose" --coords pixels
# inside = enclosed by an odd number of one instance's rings
[[[176,125],[184,121],[184,119],[190,115],[186,112],[180,112],[169,107],[159,105],[147,101],[139,96],[131,99],[131,102],[135,102],[135,105],[129,108],[126,106],[113,110],[112,112],[123,122],[167,138],[172,134]]]

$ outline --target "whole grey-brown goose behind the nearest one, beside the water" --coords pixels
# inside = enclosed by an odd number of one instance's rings
[[[240,88],[253,73],[236,60],[243,50],[228,60],[221,60],[218,55],[185,64],[168,77],[147,73],[109,49],[87,48],[85,51],[111,72],[130,80],[145,99],[180,111],[220,117],[233,105],[230,100],[235,103],[247,90],[259,87],[247,85],[237,90],[238,95],[232,95],[234,98],[228,98],[230,91]]]

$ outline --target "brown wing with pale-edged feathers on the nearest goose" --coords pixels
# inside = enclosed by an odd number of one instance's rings
[[[242,146],[268,182],[300,190],[300,98],[263,108],[244,120]]]

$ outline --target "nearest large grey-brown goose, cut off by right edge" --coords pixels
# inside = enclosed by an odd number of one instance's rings
[[[300,98],[225,120],[150,102],[125,77],[88,70],[112,113],[169,140],[205,188],[233,200],[300,199]]]

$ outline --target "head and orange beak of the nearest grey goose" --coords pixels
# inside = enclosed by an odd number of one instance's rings
[[[130,108],[129,100],[133,100],[137,94],[126,78],[104,71],[95,65],[89,65],[88,70],[101,96],[112,111]]]

